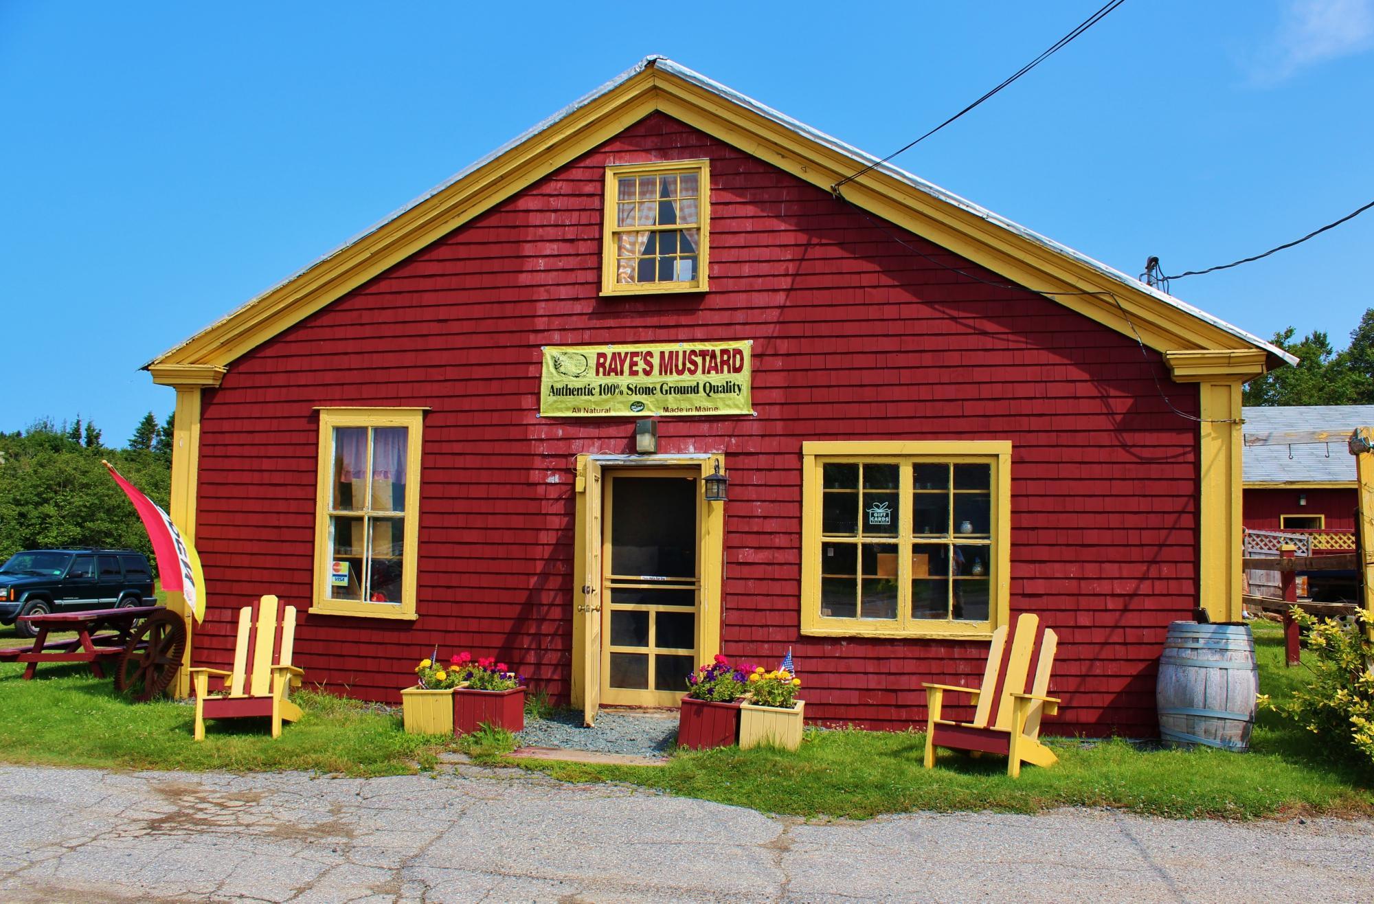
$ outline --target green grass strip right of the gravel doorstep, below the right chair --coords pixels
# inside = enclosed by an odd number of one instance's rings
[[[1308,675],[1283,666],[1282,636],[1254,624],[1261,691],[1286,698]],[[1304,654],[1305,657],[1307,654]],[[1256,817],[1278,812],[1374,815],[1371,776],[1330,757],[1322,742],[1261,712],[1252,752],[1140,750],[1125,741],[1050,739],[1059,762],[1022,767],[1003,757],[941,752],[922,768],[923,732],[811,731],[800,750],[725,747],[680,752],[666,767],[519,761],[570,782],[627,782],[672,794],[800,816],[868,817],[916,809],[1035,812],[1113,806],[1160,816]]]

